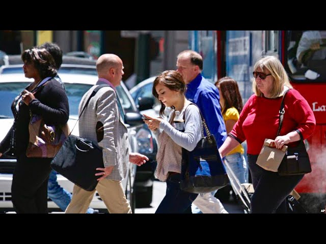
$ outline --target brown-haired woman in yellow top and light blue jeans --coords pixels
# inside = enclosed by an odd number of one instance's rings
[[[243,107],[238,84],[234,79],[226,76],[216,81],[215,86],[219,88],[222,115],[226,132],[229,134],[238,121],[239,114]],[[225,157],[225,160],[229,163],[232,171],[241,184],[248,182],[248,166],[246,159],[243,157],[243,153],[244,149],[241,144],[239,144]]]

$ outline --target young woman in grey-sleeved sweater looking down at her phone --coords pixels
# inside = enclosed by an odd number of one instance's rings
[[[166,107],[173,110],[168,120],[144,114],[144,121],[159,144],[155,176],[167,182],[166,195],[155,214],[191,214],[192,202],[198,196],[180,189],[182,148],[188,151],[195,149],[201,139],[202,124],[199,109],[189,105],[191,102],[185,98],[185,90],[180,73],[175,70],[161,73],[154,80],[152,92],[161,103],[160,115]],[[178,122],[174,120],[175,117],[179,117]],[[181,122],[183,117],[184,121]]]

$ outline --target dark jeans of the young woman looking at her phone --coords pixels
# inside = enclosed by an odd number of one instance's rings
[[[191,214],[192,202],[198,194],[189,193],[180,189],[181,174],[170,175],[167,179],[167,193],[155,214]]]

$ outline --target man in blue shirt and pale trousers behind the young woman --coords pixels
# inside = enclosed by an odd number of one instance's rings
[[[192,50],[185,50],[177,57],[177,71],[187,84],[186,98],[195,103],[214,135],[218,147],[225,141],[227,134],[220,106],[219,90],[201,74],[203,70],[202,56]],[[205,132],[204,132],[205,133]],[[204,213],[225,213],[222,203],[214,197],[215,192],[199,194],[193,202]]]

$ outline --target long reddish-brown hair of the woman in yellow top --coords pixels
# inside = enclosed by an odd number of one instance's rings
[[[239,87],[236,81],[228,76],[225,76],[216,81],[215,86],[220,87],[222,93],[221,96],[224,98],[224,107],[222,108],[222,114],[224,114],[226,110],[232,107],[235,107],[240,113],[243,105]]]

